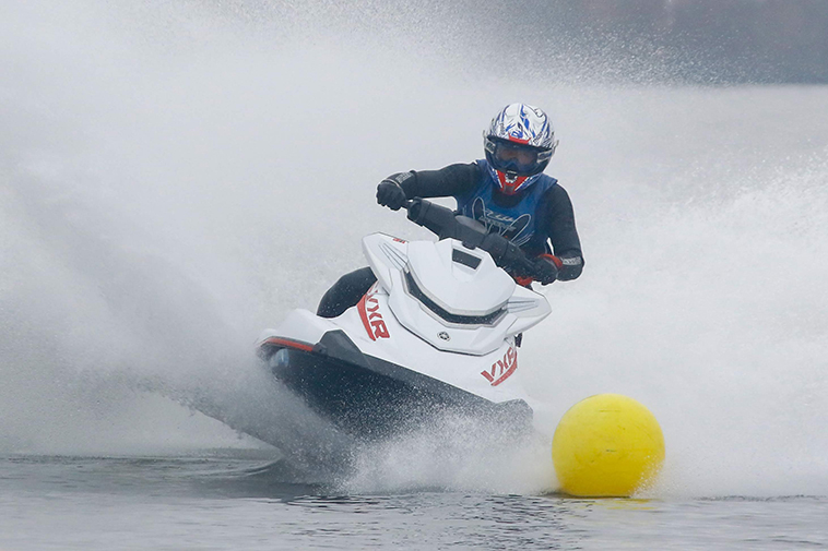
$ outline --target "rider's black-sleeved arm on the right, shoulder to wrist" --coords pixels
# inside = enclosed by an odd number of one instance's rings
[[[575,227],[572,202],[566,190],[558,184],[546,191],[543,201],[546,211],[546,235],[552,241],[555,256],[560,259],[563,264],[558,271],[558,279],[575,279],[583,269],[583,255],[581,240]]]

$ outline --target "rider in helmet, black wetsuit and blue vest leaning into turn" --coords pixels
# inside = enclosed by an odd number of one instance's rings
[[[555,178],[542,173],[558,145],[549,118],[530,105],[508,105],[492,119],[483,141],[485,159],[389,176],[377,187],[377,203],[398,211],[409,199],[453,196],[458,213],[536,259],[532,275],[542,285],[581,275],[572,203]],[[532,280],[514,278],[521,285]],[[342,276],[322,297],[317,315],[341,315],[376,280],[369,267]]]

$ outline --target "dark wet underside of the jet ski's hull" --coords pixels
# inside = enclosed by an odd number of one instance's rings
[[[342,331],[326,333],[315,345],[272,337],[260,345],[260,354],[288,390],[360,440],[429,427],[442,415],[470,417],[499,430],[531,430],[532,409],[525,402],[496,404],[364,355]]]

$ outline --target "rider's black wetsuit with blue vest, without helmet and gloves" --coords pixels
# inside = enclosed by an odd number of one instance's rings
[[[514,238],[523,240],[519,243],[520,248],[529,256],[554,252],[563,262],[558,271],[560,280],[575,279],[581,275],[583,255],[575,226],[572,203],[566,190],[558,185],[554,178],[542,175],[544,178],[542,181],[533,183],[514,195],[506,195],[493,192],[494,188],[489,188],[495,183],[488,173],[485,160],[413,173],[413,178],[404,180],[401,184],[406,197],[453,196],[458,200],[460,209],[465,207],[466,211],[474,211],[473,216],[486,224],[489,231],[499,231],[507,237],[510,237],[509,231],[513,231],[517,220],[502,213],[520,213],[525,207],[525,211],[530,212],[523,216],[529,216],[531,219],[533,217],[530,227],[532,231],[530,235],[517,231]],[[543,187],[539,187],[541,183]],[[480,199],[484,195],[489,200],[488,204]],[[472,208],[471,205],[475,202],[478,204]],[[484,206],[481,207],[481,204]],[[522,218],[522,216],[518,217],[521,220]],[[514,242],[518,243],[517,240]],[[552,249],[549,242],[552,242]],[[317,315],[322,318],[341,315],[355,306],[376,280],[369,267],[342,276],[322,297]]]

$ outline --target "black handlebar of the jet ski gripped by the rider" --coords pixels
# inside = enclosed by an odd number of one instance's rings
[[[438,239],[457,239],[469,249],[480,247],[510,274],[522,277],[535,274],[535,263],[518,245],[499,233],[489,233],[477,220],[419,197],[405,201],[403,206],[411,221],[431,230]]]

